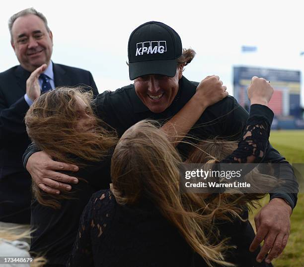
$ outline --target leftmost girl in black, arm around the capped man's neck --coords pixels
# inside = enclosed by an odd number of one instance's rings
[[[195,123],[194,118],[198,118],[206,106],[226,96],[225,92],[219,94],[213,90],[205,99],[201,90],[206,91],[203,84],[198,85],[198,94],[193,98],[196,104],[204,106],[203,109],[186,105],[173,116],[173,122],[178,123],[179,116],[184,118],[185,113],[190,113],[189,108],[194,110],[181,129],[191,127]],[[65,265],[76,239],[84,206],[94,192],[109,188],[111,183],[110,163],[117,134],[94,115],[91,100],[92,95],[81,92],[81,88],[57,88],[41,95],[25,116],[28,135],[40,149],[57,161],[80,167],[73,173],[79,183],[69,185],[73,188],[71,192],[49,195],[33,183],[31,252],[32,255],[45,255],[49,267]],[[164,124],[161,130],[177,143],[179,136],[171,127],[173,123],[167,123],[169,127]]]

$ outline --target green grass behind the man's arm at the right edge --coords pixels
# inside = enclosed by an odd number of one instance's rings
[[[304,131],[272,131],[270,142],[290,163],[304,164]],[[261,200],[264,205],[269,197]],[[253,222],[256,209],[250,215]],[[254,222],[252,223],[253,228]],[[291,216],[291,234],[281,256],[273,261],[275,267],[304,267],[304,193],[298,196],[298,203]]]

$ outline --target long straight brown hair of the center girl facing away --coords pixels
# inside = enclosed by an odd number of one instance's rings
[[[112,192],[120,204],[152,201],[209,266],[233,266],[224,261],[224,241],[209,241],[213,213],[203,214],[204,200],[196,194],[180,193],[180,163],[181,157],[167,136],[151,122],[139,122],[122,135],[114,150]]]

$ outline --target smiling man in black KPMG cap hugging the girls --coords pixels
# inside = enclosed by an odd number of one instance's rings
[[[191,101],[196,92],[198,83],[187,80],[182,74],[183,67],[191,62],[194,55],[191,49],[182,50],[179,35],[169,26],[154,21],[139,26],[132,32],[128,44],[129,75],[134,84],[115,92],[100,94],[94,100],[96,114],[119,134],[143,119],[171,118]],[[189,135],[202,139],[212,136],[232,136],[237,139],[241,136],[247,118],[248,113],[233,97],[228,96],[206,108],[196,123],[197,126],[205,127],[193,127]],[[187,145],[182,143],[178,148],[183,156],[187,156]],[[59,175],[58,178],[58,172],[54,170],[76,170],[76,166],[52,161],[43,151],[33,154],[35,151],[37,150],[30,147],[24,156],[24,164],[35,183],[50,193],[55,191],[50,187],[64,190],[65,184],[53,180],[71,182],[74,178],[65,175]],[[282,163],[287,172],[293,173],[289,163],[270,144],[264,162]],[[49,168],[44,167],[45,164]],[[297,194],[278,192],[271,195],[270,202],[257,215],[258,232],[251,250],[256,250],[258,244],[265,239],[258,261],[262,261],[270,251],[267,258],[270,262],[283,251],[289,236],[289,217],[296,202]],[[271,223],[268,224],[269,222]],[[248,240],[244,241],[246,245],[243,251],[249,249]],[[252,239],[249,244],[251,241]]]

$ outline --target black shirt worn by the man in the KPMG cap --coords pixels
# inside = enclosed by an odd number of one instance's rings
[[[197,86],[198,82],[189,81],[183,76],[179,80],[179,89],[172,104],[161,113],[153,113],[144,105],[136,94],[134,84],[122,87],[114,92],[106,91],[99,94],[93,100],[92,105],[97,116],[115,128],[121,136],[128,128],[141,120],[152,119],[165,123],[191,99]],[[248,116],[248,112],[232,96],[228,96],[208,107],[188,136],[197,139],[220,137],[228,140],[238,140],[242,136]],[[193,139],[187,141],[193,141]],[[191,147],[181,143],[178,145],[178,149],[181,155],[186,157]],[[286,180],[292,178],[291,184],[290,186],[286,185],[285,188],[280,188],[278,193],[270,194],[270,199],[283,198],[294,208],[297,203],[297,194],[294,193],[297,191],[295,190],[297,185],[295,186],[296,182],[290,164],[270,143],[262,162],[285,164]]]

